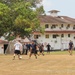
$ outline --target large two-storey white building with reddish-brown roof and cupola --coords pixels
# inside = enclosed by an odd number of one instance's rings
[[[53,50],[68,49],[68,43],[73,41],[75,46],[75,19],[68,16],[58,16],[57,10],[49,11],[51,15],[39,16],[40,25],[45,27],[44,34],[34,32],[31,39],[43,43],[50,43]],[[45,47],[46,49],[46,47]]]

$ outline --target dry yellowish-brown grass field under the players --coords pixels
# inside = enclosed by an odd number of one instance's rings
[[[45,56],[22,55],[22,59],[12,60],[13,55],[0,55],[0,75],[75,75],[75,52],[45,53]]]

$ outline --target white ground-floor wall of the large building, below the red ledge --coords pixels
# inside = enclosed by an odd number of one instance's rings
[[[49,43],[51,45],[51,47],[54,49],[54,50],[64,50],[64,49],[68,49],[68,44],[69,44],[69,41],[72,40],[73,43],[74,43],[74,47],[75,47],[75,39],[74,39],[74,35],[73,33],[70,34],[70,37],[68,37],[68,34],[69,33],[63,33],[64,34],[64,37],[61,38],[61,34],[62,33],[58,33],[58,37],[57,38],[53,38],[52,35],[53,33],[49,34],[49,38],[45,38],[45,34],[44,35],[41,35],[41,37],[39,37],[37,39],[37,41],[39,43],[43,43],[44,44],[44,49],[47,50],[46,48],[46,44]]]

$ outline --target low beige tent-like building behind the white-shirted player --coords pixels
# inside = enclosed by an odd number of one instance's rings
[[[21,37],[16,37],[16,39],[9,41],[8,47],[5,51],[6,54],[14,54],[14,44],[16,43],[16,41],[20,40],[20,42],[22,43],[22,45],[24,43],[31,43],[32,41],[30,39],[28,39],[27,37],[25,37],[24,39],[22,39]]]

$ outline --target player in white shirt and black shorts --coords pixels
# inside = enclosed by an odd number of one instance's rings
[[[14,56],[13,56],[13,60],[15,59],[15,56],[18,55],[18,59],[21,59],[20,55],[22,52],[22,44],[20,43],[20,40],[18,40],[15,44],[14,44]]]

